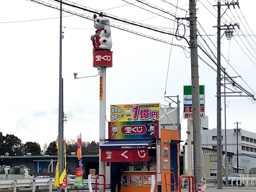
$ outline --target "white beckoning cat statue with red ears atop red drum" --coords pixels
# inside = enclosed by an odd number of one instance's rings
[[[95,35],[91,36],[93,51],[96,50],[111,50],[112,48],[112,38],[111,38],[111,29],[109,24],[109,19],[103,17],[103,13],[100,12],[100,15],[93,15],[94,18],[94,27],[97,29]]]

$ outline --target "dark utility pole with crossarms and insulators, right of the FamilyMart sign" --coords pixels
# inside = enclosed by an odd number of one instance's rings
[[[230,5],[233,5],[235,9],[235,5],[238,5],[238,2],[231,2],[231,4],[226,4],[221,5],[220,0],[218,0],[218,5],[213,5],[218,7],[218,17],[217,17],[217,184],[218,184],[218,189],[222,189],[222,137],[221,137],[221,63],[220,63],[220,57],[221,57],[221,52],[220,52],[220,39],[222,36],[220,36],[220,31],[221,30],[226,30],[225,34],[233,34],[233,31],[230,30],[230,27],[238,26],[237,24],[234,25],[220,25],[220,19],[223,16],[223,14],[230,9]],[[226,11],[220,15],[220,8],[221,6],[228,6]],[[238,5],[239,8],[239,5]],[[224,28],[222,28],[224,27]],[[225,106],[226,107],[226,106]],[[226,157],[227,158],[227,157]]]

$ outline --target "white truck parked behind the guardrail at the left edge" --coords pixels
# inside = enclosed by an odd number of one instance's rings
[[[15,179],[33,179],[34,175],[31,169],[25,165],[10,167],[0,165],[0,180],[15,180]]]

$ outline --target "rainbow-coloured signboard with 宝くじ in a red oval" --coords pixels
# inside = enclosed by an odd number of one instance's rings
[[[159,138],[159,121],[108,122],[108,139]]]

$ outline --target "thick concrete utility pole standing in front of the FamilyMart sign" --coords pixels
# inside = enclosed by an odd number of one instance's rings
[[[199,101],[199,75],[196,31],[196,0],[189,0],[189,28],[191,50],[191,84],[193,109],[193,146],[194,146],[194,177],[195,187],[203,186],[203,154],[201,136],[201,117]],[[197,190],[197,187],[195,188]]]

